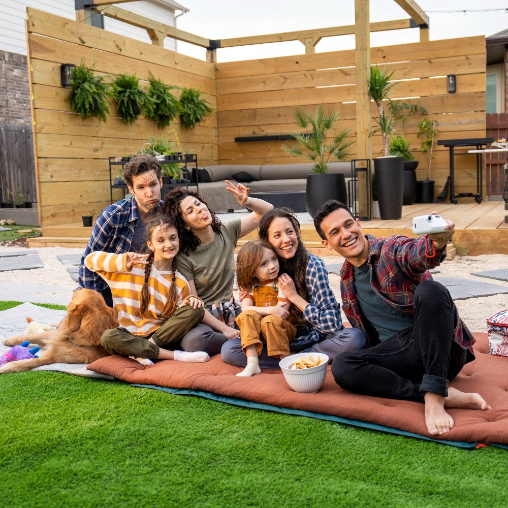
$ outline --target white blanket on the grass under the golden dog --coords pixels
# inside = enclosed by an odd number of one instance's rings
[[[12,309],[0,311],[0,356],[10,349],[9,346],[3,344],[2,340],[12,335],[22,334],[27,327],[27,317],[31,317],[31,319],[37,323],[53,325],[59,323],[66,314],[67,311],[65,310],[47,309],[28,302],[22,303]],[[42,357],[44,355],[44,350],[41,349],[37,355]],[[112,376],[86,370],[85,363],[52,363],[50,365],[36,367],[33,370],[55,370],[57,372],[67,372],[68,374],[75,374],[78,376],[114,379]]]

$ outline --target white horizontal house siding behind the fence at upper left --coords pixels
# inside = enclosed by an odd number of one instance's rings
[[[76,19],[74,0],[0,0],[0,50],[26,55],[26,8],[33,7],[57,16]],[[143,0],[119,4],[118,7],[154,19],[170,26],[175,25],[174,12],[164,2]],[[104,28],[116,34],[150,43],[146,30],[111,18],[104,19]],[[164,47],[176,50],[173,39],[166,38]]]

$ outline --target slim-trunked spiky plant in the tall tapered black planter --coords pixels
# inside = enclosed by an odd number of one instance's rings
[[[394,86],[391,81],[393,71],[379,69],[377,64],[370,68],[368,82],[369,95],[375,102],[378,117],[374,118],[376,127],[371,135],[380,133],[383,141],[383,156],[374,159],[374,175],[379,200],[379,213],[384,220],[399,219],[402,216],[404,194],[404,160],[390,155],[390,136],[394,131],[393,115],[385,113],[384,102]]]

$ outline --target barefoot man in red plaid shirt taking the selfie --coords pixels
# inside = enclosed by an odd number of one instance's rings
[[[363,235],[360,220],[338,201],[327,201],[314,216],[323,245],[345,258],[344,313],[368,337],[366,348],[335,357],[336,383],[363,395],[423,402],[431,435],[454,426],[447,407],[490,409],[478,393],[448,387],[474,359],[474,338],[428,271],[446,257],[455,231],[447,222],[444,233],[375,238]]]

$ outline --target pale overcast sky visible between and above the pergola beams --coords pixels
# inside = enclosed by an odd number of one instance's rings
[[[177,19],[177,27],[207,39],[275,34],[286,31],[350,25],[355,22],[354,0],[178,0],[190,11]],[[508,29],[507,0],[416,0],[430,19],[430,39],[474,35],[490,36]],[[502,9],[482,12],[487,9]],[[442,12],[442,11],[462,12]],[[440,11],[440,12],[432,12]],[[480,11],[480,12],[478,12]],[[370,0],[370,21],[405,19],[394,0]],[[419,41],[419,29],[373,33],[371,46]],[[327,37],[316,52],[354,48],[354,36]],[[205,58],[205,50],[178,42],[178,51]],[[283,42],[217,50],[217,61],[232,61],[304,53],[300,42]]]

